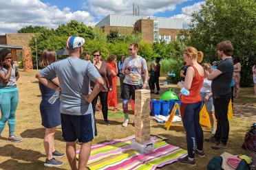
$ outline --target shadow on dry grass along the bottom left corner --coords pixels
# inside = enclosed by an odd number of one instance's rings
[[[3,170],[17,170],[17,169],[61,169],[56,167],[43,167],[44,162],[36,160],[36,162],[18,162],[17,160],[6,160],[1,162],[0,169]]]

